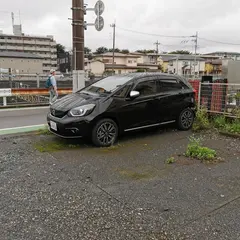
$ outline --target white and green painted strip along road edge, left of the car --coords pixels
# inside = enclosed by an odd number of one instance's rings
[[[0,129],[0,136],[8,135],[8,134],[35,132],[41,129],[46,129],[46,127],[47,127],[46,124],[40,124],[40,125],[23,126],[23,127],[2,128]]]

